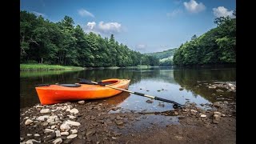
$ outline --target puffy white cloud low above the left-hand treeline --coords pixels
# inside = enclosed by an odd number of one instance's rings
[[[96,34],[118,34],[122,31],[122,25],[118,22],[87,22],[84,27],[86,33],[94,32]]]

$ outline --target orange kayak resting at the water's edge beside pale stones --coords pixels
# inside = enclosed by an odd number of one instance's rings
[[[102,80],[102,83],[110,83],[106,86],[127,89],[130,79],[111,78]],[[35,89],[42,105],[86,99],[109,98],[122,93],[122,90],[114,90],[106,86],[90,84],[56,84],[37,86]]]

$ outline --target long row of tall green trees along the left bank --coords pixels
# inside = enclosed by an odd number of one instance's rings
[[[27,11],[20,11],[20,62],[63,66],[158,66],[158,58],[130,50],[111,34],[85,33],[72,18],[50,22]]]

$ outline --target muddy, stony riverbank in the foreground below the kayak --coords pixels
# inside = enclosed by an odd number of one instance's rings
[[[20,109],[20,142],[236,143],[236,103],[201,107],[187,102],[183,109],[138,113],[104,101],[36,105]]]

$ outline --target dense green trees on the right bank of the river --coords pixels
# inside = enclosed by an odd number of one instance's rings
[[[234,16],[236,12],[234,10]],[[236,62],[236,18],[220,17],[217,27],[200,37],[194,35],[190,42],[182,44],[174,54],[178,66],[201,64],[225,64]]]

